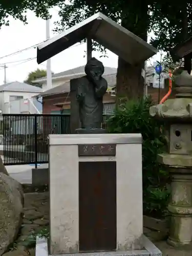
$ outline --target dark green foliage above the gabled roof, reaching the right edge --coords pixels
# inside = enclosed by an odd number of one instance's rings
[[[61,32],[96,12],[102,12],[126,29],[145,39],[146,32],[153,31],[151,40],[157,49],[167,53],[166,59],[173,63],[169,51],[191,35],[192,3],[190,1],[123,1],[123,0],[69,0],[60,2],[60,21],[55,31]],[[94,44],[94,49],[105,49]]]

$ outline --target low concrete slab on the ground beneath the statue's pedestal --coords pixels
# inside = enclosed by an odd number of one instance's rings
[[[143,250],[129,251],[106,251],[106,252],[84,252],[84,253],[65,253],[49,254],[48,242],[46,238],[36,238],[36,256],[162,256],[162,252],[144,234],[140,238]]]

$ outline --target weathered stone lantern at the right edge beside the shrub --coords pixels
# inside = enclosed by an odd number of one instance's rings
[[[171,177],[168,204],[172,246],[192,243],[192,76],[175,76],[176,98],[152,106],[150,115],[165,122],[167,152],[158,155]]]

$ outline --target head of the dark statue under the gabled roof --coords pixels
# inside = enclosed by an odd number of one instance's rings
[[[91,58],[88,60],[84,72],[87,76],[94,77],[95,79],[100,79],[104,73],[104,66],[101,61],[96,58]]]

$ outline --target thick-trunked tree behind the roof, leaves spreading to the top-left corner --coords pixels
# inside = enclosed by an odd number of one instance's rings
[[[154,2],[149,0],[148,3],[141,0],[100,0],[99,3],[91,0],[69,0],[68,4],[63,0],[4,0],[0,3],[0,27],[2,24],[9,25],[9,15],[26,23],[25,14],[28,9],[34,11],[37,16],[47,18],[48,8],[55,5],[61,7],[59,13],[62,17],[61,29],[69,28],[95,12],[101,11],[144,40],[147,38],[147,30],[150,26],[150,12],[154,8]],[[141,69],[143,64],[132,67],[119,58],[118,66],[118,96],[125,94],[129,98],[142,97]]]

